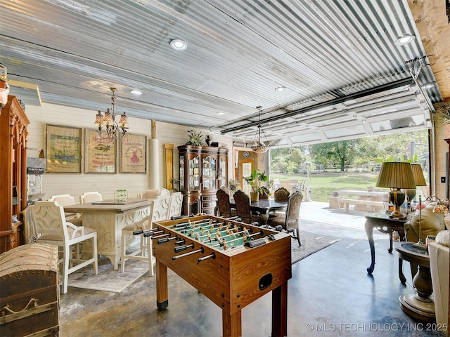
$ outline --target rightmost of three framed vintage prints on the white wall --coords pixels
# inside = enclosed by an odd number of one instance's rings
[[[147,136],[128,133],[122,140],[120,173],[147,173]]]

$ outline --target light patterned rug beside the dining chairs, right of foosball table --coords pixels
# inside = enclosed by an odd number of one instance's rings
[[[300,241],[302,242],[302,246],[298,245],[296,239],[290,242],[291,260],[293,264],[338,242],[338,239],[300,231]]]

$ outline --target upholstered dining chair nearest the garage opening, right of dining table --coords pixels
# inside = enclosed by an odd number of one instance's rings
[[[285,213],[275,213],[276,216],[267,219],[267,225],[276,227],[281,225],[284,230],[293,231],[293,238],[297,239],[298,245],[302,246],[300,242],[300,205],[302,204],[303,194],[301,192],[294,192],[290,194],[288,199],[288,209]]]

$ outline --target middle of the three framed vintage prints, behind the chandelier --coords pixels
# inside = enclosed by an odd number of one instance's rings
[[[116,173],[117,140],[98,137],[95,130],[86,128],[86,173]]]

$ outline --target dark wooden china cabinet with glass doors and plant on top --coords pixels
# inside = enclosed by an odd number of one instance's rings
[[[182,213],[214,214],[217,189],[228,182],[228,150],[191,145],[181,145],[178,150]]]

